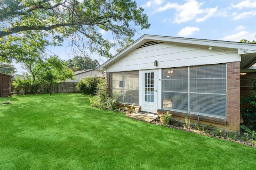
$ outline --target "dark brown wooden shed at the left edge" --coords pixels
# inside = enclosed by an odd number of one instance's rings
[[[0,97],[11,96],[12,82],[11,75],[0,73]]]

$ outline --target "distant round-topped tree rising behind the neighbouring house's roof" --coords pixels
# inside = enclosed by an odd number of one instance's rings
[[[75,56],[73,59],[69,59],[67,62],[68,68],[71,68],[74,71],[92,69],[100,66],[98,60],[94,59],[92,61],[92,59],[82,56]]]

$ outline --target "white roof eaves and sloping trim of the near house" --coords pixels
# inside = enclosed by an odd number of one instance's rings
[[[211,49],[225,49],[228,51],[237,51],[237,54],[241,56],[242,61],[240,63],[240,68],[248,69],[254,63],[256,63],[256,44],[252,43],[240,43],[231,41],[219,41],[219,40],[207,40],[207,39],[193,39],[193,38],[181,38],[181,37],[168,37],[168,36],[158,36],[158,35],[143,35],[134,43],[126,47],[124,50],[120,51],[114,57],[100,65],[96,70],[106,70],[108,66],[116,63],[122,57],[131,53],[135,49],[146,47],[149,45],[159,44],[159,43],[178,43],[185,45],[198,45],[208,47]]]

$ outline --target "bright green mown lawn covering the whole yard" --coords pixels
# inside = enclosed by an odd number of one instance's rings
[[[9,98],[0,98],[0,103]],[[254,169],[256,149],[90,107],[83,94],[0,105],[0,169]]]

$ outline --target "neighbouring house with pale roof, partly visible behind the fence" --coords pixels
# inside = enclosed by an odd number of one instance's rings
[[[69,78],[68,80],[66,80],[66,82],[80,82],[80,80],[82,78],[85,78],[85,77],[88,77],[88,76],[90,76],[90,77],[94,77],[94,76],[104,77],[104,76],[106,76],[106,74],[104,74],[104,72],[97,71],[97,70],[95,70],[95,68],[94,69],[88,69],[88,70],[86,70],[86,69],[85,70],[80,70],[80,71],[76,71],[74,73],[75,73],[75,76],[74,76],[75,80],[71,80]]]

